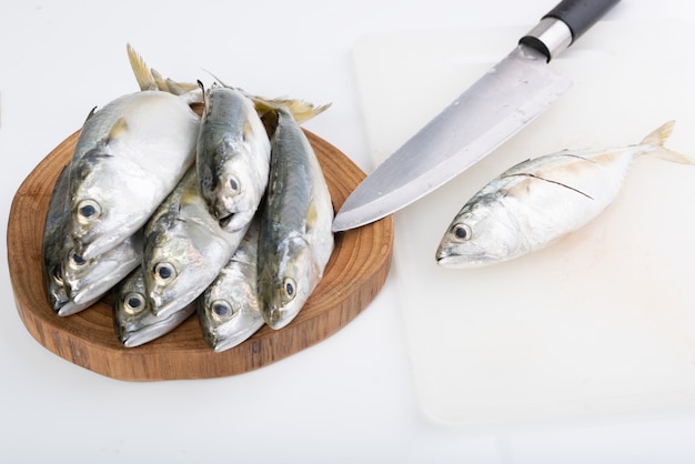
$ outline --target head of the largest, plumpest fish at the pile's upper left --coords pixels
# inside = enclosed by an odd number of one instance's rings
[[[77,160],[70,179],[70,234],[84,260],[114,248],[147,221],[152,181],[100,144]]]

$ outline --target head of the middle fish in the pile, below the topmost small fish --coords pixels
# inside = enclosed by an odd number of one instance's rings
[[[207,225],[174,213],[145,230],[144,283],[155,314],[188,305],[229,260],[229,245]]]

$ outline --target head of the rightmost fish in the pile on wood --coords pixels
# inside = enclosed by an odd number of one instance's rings
[[[272,329],[288,325],[302,309],[320,279],[311,246],[301,235],[281,241],[276,259],[259,262],[260,311]]]

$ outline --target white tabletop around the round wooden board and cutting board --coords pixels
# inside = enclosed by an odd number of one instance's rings
[[[351,57],[356,38],[380,31],[526,26],[551,3],[268,1],[218,7],[62,1],[0,7],[3,235],[12,195],[31,169],[80,127],[93,105],[135,88],[127,41],[167,75],[197,79],[201,69],[210,69],[261,94],[332,101],[331,110],[308,128],[369,170],[373,163]],[[610,13],[612,19],[679,23],[688,17],[693,7],[685,0],[665,0],[658,8],[647,0],[623,1]],[[685,67],[682,74],[689,79]],[[407,97],[413,111],[427,99],[417,97]],[[628,141],[651,129],[646,125],[635,127]],[[687,129],[681,125],[678,131]],[[673,145],[679,147],[676,135]],[[4,246],[2,252],[6,261]],[[0,461],[695,458],[692,408],[484,427],[431,422],[421,413],[414,390],[396,280],[390,278],[374,303],[344,330],[269,367],[211,381],[125,383],[77,367],[33,341],[19,320],[8,271],[1,266]]]

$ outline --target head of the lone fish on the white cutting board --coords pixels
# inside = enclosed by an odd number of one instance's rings
[[[506,261],[523,246],[518,225],[498,194],[475,196],[456,214],[442,238],[436,262],[475,268]]]

